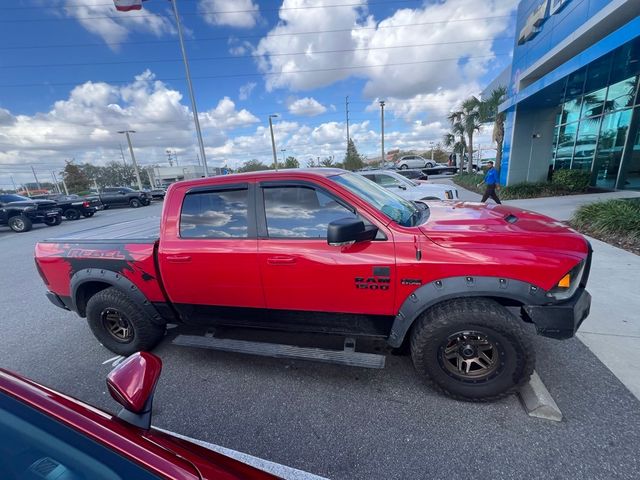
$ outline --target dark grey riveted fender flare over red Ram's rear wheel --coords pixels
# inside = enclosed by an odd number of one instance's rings
[[[167,321],[162,318],[158,310],[153,306],[147,297],[140,291],[136,285],[120,273],[102,268],[85,268],[73,274],[70,282],[72,309],[79,315],[84,316],[83,312],[78,309],[78,290],[82,285],[89,282],[100,282],[117,288],[122,293],[130,297],[136,302],[156,325],[166,325]]]

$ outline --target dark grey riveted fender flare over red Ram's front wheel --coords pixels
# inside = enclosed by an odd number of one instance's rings
[[[523,305],[550,303],[547,292],[531,283],[504,277],[448,277],[422,285],[404,301],[387,339],[390,347],[399,348],[413,322],[429,307],[461,297],[493,297],[513,300]]]

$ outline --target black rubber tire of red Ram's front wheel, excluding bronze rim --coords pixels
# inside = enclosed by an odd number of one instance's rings
[[[461,379],[447,371],[444,346],[459,332],[480,332],[495,344],[496,370],[483,379]],[[424,312],[411,332],[416,370],[437,390],[457,400],[486,402],[514,393],[529,380],[535,350],[524,324],[488,298],[448,300]]]

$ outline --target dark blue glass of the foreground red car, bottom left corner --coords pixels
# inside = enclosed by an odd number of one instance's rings
[[[0,394],[0,478],[158,478],[132,461]]]

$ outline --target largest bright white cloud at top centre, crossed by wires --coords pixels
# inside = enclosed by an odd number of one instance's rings
[[[310,5],[308,0],[284,0],[280,22],[256,47],[258,68],[268,74],[267,90],[310,90],[350,76],[366,80],[364,94],[370,98],[410,98],[456,89],[486,73],[495,58],[491,39],[507,28],[505,16],[518,2],[429,2],[399,9],[380,21],[367,14],[366,0],[352,3],[305,9],[299,7]],[[318,0],[313,5],[335,2]],[[287,35],[300,31],[327,32]],[[359,66],[367,68],[353,68]]]

